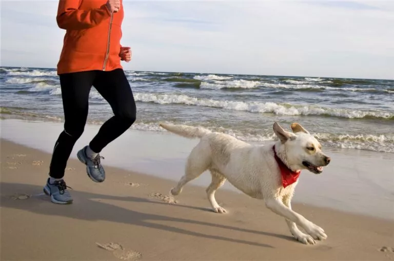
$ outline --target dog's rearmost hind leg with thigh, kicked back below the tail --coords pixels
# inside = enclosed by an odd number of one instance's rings
[[[178,195],[182,192],[183,186],[189,181],[198,178],[205,170],[208,169],[210,164],[210,155],[204,149],[204,144],[197,144],[191,151],[185,167],[185,175],[178,182],[176,187],[171,189],[172,195]]]

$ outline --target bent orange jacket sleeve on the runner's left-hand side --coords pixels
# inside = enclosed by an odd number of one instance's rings
[[[78,10],[81,0],[60,0],[56,21],[58,27],[66,30],[80,30],[95,27],[111,16],[106,5],[91,10]]]

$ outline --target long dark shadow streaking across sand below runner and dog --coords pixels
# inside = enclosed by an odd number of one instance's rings
[[[169,205],[164,202],[157,202],[157,201],[153,201],[153,200],[151,201],[149,199],[144,199],[144,198],[117,197],[117,196],[95,194],[95,193],[76,191],[76,190],[71,191],[72,195],[81,204],[74,203],[70,206],[56,206],[56,205],[54,205],[53,207],[43,208],[43,207],[40,207],[42,205],[42,201],[35,200],[36,197],[29,199],[28,200],[29,204],[18,204],[16,202],[13,202],[12,199],[10,199],[10,196],[14,193],[37,194],[42,191],[42,187],[40,187],[40,186],[2,182],[2,183],[0,183],[0,189],[2,191],[2,200],[0,203],[2,207],[16,208],[16,209],[31,211],[31,212],[35,212],[35,213],[39,213],[39,214],[54,215],[54,216],[67,216],[67,217],[71,217],[73,219],[80,219],[80,220],[90,220],[90,221],[102,220],[102,221],[124,223],[124,224],[143,226],[143,227],[148,227],[148,228],[155,228],[155,229],[165,230],[165,231],[170,231],[170,232],[176,232],[176,233],[181,233],[181,234],[186,234],[186,235],[205,237],[205,238],[210,238],[210,239],[214,239],[214,240],[222,240],[222,241],[228,241],[228,242],[233,242],[233,243],[253,245],[253,246],[258,246],[258,247],[273,248],[272,246],[267,245],[267,244],[244,241],[244,240],[239,240],[239,239],[234,239],[234,238],[227,238],[227,237],[218,236],[218,235],[203,234],[200,232],[189,231],[189,230],[178,228],[178,227],[157,224],[154,221],[180,222],[180,223],[186,223],[186,224],[209,226],[212,228],[219,227],[219,228],[223,228],[223,229],[238,230],[241,232],[257,233],[257,234],[261,234],[261,235],[265,235],[265,236],[279,237],[284,240],[294,242],[293,237],[286,236],[286,235],[263,232],[263,231],[255,231],[255,230],[249,230],[249,229],[238,228],[238,227],[231,227],[231,226],[226,226],[226,225],[221,225],[221,224],[213,224],[213,223],[209,223],[209,222],[202,222],[202,221],[196,221],[196,220],[181,219],[178,217],[169,217],[169,216],[165,216],[165,215],[141,213],[141,212],[137,212],[134,210],[125,209],[122,207],[117,207],[117,206],[114,206],[114,205],[111,205],[108,203],[100,202],[97,200],[120,200],[120,201],[132,201],[132,202],[137,202],[137,203],[147,203],[147,204],[165,204],[168,207],[186,207],[186,208],[208,211],[206,208],[184,206],[184,205],[178,205],[178,204]],[[11,192],[11,194],[5,195],[4,192],[6,192],[6,191],[12,191],[12,192]],[[8,193],[10,193],[10,192],[8,192]],[[89,201],[89,202],[84,202],[84,201]],[[51,204],[51,203],[49,203],[49,200],[48,200],[48,204]],[[103,211],[103,210],[105,210],[105,211]]]

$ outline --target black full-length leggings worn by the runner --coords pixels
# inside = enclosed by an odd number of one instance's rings
[[[135,121],[136,107],[130,84],[122,69],[60,75],[64,130],[53,148],[49,176],[61,179],[75,142],[84,132],[92,86],[111,105],[114,116],[106,121],[89,146],[95,153],[121,136]]]

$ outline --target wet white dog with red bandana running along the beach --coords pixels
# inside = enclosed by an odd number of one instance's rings
[[[278,123],[273,131],[279,138],[271,146],[251,145],[230,135],[211,132],[201,127],[160,124],[169,132],[186,138],[200,138],[186,163],[185,175],[173,195],[181,193],[185,184],[209,169],[212,182],[206,189],[213,211],[225,213],[215,200],[215,192],[226,180],[255,199],[264,199],[267,208],[286,219],[291,234],[304,244],[327,238],[324,230],[291,209],[291,198],[302,169],[319,174],[330,162],[321,144],[300,124],[292,123],[293,133]],[[301,232],[297,225],[305,232]]]

